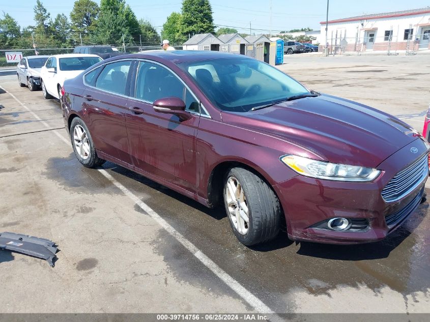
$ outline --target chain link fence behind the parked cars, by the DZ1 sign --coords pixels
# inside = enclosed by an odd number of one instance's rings
[[[0,33],[0,70],[16,69],[20,60],[8,62],[8,53],[17,53],[16,57],[32,55],[56,55],[72,53],[76,46],[108,45],[114,46],[121,52],[136,53],[147,50],[161,49],[163,39],[175,39],[168,35],[110,35],[109,37],[95,37],[94,35],[71,33],[68,35],[38,34],[21,32],[15,34]],[[182,49],[182,42],[170,40],[175,49]],[[9,56],[9,60],[12,56]]]

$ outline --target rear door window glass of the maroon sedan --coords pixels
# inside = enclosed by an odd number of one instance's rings
[[[97,77],[96,87],[108,92],[128,95],[126,84],[130,66],[131,61],[105,65],[99,77]]]

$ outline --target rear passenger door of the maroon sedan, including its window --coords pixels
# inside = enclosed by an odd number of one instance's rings
[[[130,163],[125,113],[132,63],[110,63],[85,74],[87,87],[82,104],[96,149],[126,163]],[[90,81],[87,75],[97,72],[98,77]]]

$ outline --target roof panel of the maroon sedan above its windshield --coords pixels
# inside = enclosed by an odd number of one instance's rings
[[[114,58],[124,59],[124,58],[161,58],[162,60],[173,62],[175,64],[185,63],[185,62],[197,62],[203,60],[212,60],[217,58],[248,58],[251,57],[245,55],[238,55],[235,53],[220,52],[220,51],[209,51],[209,50],[156,50],[156,51],[146,51],[139,52],[135,54],[126,54],[121,56],[116,56]],[[110,58],[110,60],[114,60]]]

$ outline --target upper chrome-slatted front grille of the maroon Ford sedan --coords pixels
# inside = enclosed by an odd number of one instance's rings
[[[402,199],[411,193],[428,175],[427,154],[420,157],[407,168],[398,172],[382,190],[381,195],[387,202]]]

